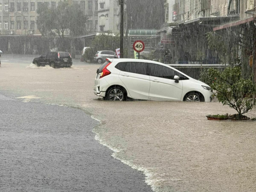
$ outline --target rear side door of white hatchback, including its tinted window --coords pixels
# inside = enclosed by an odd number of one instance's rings
[[[147,63],[126,62],[124,71],[120,72],[119,78],[132,98],[148,100],[150,82]]]

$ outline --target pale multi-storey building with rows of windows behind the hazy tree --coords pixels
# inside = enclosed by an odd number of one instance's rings
[[[58,6],[59,0],[0,0],[0,35],[40,35],[36,26],[37,7]],[[87,32],[119,30],[118,0],[69,0],[88,16]],[[68,33],[66,35],[69,35]]]

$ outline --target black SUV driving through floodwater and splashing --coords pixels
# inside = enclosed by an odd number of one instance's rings
[[[37,66],[50,65],[53,68],[70,67],[72,59],[68,52],[46,52],[36,57],[33,63]]]

